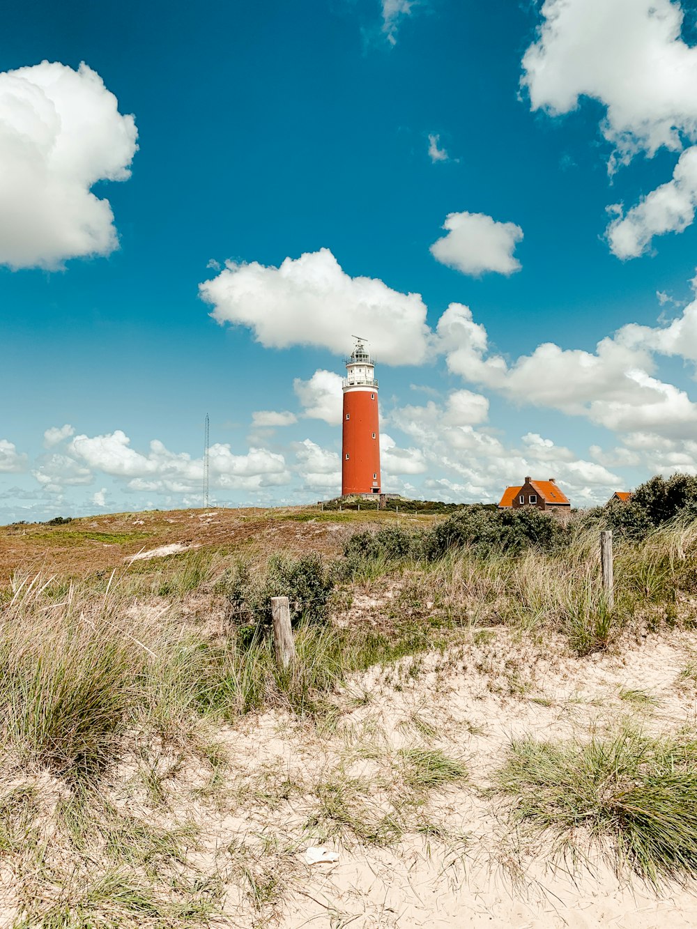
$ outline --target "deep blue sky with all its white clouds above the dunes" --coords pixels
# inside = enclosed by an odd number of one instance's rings
[[[694,24],[669,0],[9,9],[0,519],[198,505],[206,412],[217,504],[335,495],[357,330],[387,491],[533,474],[587,505],[695,473]]]

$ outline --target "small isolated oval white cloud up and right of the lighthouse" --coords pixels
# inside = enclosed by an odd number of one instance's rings
[[[475,277],[487,271],[507,275],[520,270],[513,252],[523,233],[515,223],[499,223],[484,213],[449,213],[443,229],[448,234],[430,248],[441,264]]]

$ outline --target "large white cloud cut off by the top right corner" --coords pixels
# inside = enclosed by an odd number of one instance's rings
[[[671,0],[546,0],[523,59],[533,110],[565,113],[581,96],[606,108],[603,135],[621,159],[697,138],[697,49]]]

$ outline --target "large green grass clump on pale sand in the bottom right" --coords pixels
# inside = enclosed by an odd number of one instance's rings
[[[556,834],[562,848],[610,840],[618,870],[657,889],[697,876],[697,741],[631,726],[587,741],[519,739],[496,783],[519,824]]]

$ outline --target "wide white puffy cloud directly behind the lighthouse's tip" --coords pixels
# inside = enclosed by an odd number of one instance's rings
[[[279,268],[229,261],[199,290],[215,320],[249,327],[267,348],[306,345],[340,354],[358,333],[385,364],[420,364],[427,357],[421,295],[401,294],[375,278],[351,278],[326,248],[286,258]]]

